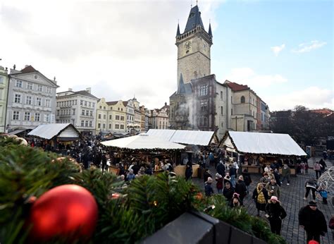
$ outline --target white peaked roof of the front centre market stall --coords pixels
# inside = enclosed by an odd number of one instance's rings
[[[184,145],[174,142],[168,142],[163,138],[158,138],[154,135],[142,133],[140,135],[133,135],[128,138],[120,138],[116,140],[107,140],[101,142],[106,147],[119,147],[130,150],[180,150],[184,149]]]

